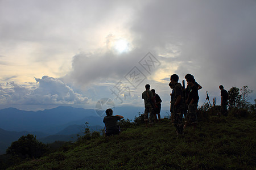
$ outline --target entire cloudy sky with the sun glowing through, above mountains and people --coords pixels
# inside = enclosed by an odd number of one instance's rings
[[[255,16],[256,1],[0,0],[0,108],[143,107],[147,83],[168,108],[187,73],[199,105],[220,84],[255,99]]]

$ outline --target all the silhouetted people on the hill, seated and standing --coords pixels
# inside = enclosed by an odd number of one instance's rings
[[[179,83],[179,76],[172,74],[170,77],[169,86],[172,89],[171,92],[171,122],[176,128],[177,135],[183,134],[183,129],[189,125],[193,125],[194,128],[197,122],[197,106],[199,102],[198,90],[202,88],[199,83],[191,74],[185,75],[187,80],[187,87]],[[160,122],[160,111],[162,100],[155,90],[150,90],[150,84],[146,84],[146,90],[142,93],[142,99],[144,100],[144,122],[146,128],[152,126],[154,122]],[[221,90],[221,114],[227,116],[227,104],[228,104],[228,92],[224,90],[222,85],[219,86]],[[121,120],[123,116],[113,116],[112,109],[106,110],[106,116],[104,117],[105,123],[105,135],[114,135],[120,133],[120,127],[117,125],[117,120]],[[220,115],[219,115],[220,116]],[[183,117],[185,118],[185,124],[183,124]]]

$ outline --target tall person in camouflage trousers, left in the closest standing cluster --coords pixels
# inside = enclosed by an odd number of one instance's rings
[[[179,76],[177,74],[172,74],[171,75],[171,83],[172,86],[174,87],[174,92],[172,95],[174,95],[174,126],[176,127],[177,135],[178,134],[183,134],[183,91],[182,91],[182,86],[180,83],[178,83]]]

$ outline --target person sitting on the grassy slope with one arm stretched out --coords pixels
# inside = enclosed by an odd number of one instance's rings
[[[121,120],[123,116],[113,116],[112,109],[106,109],[106,116],[104,117],[105,136],[119,134],[121,132],[120,126],[117,126],[117,121]]]

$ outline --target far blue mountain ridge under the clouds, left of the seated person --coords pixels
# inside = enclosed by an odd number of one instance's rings
[[[44,111],[0,110],[0,128],[8,131],[42,131],[55,134],[72,124],[102,125],[102,118],[93,109],[57,107]]]

